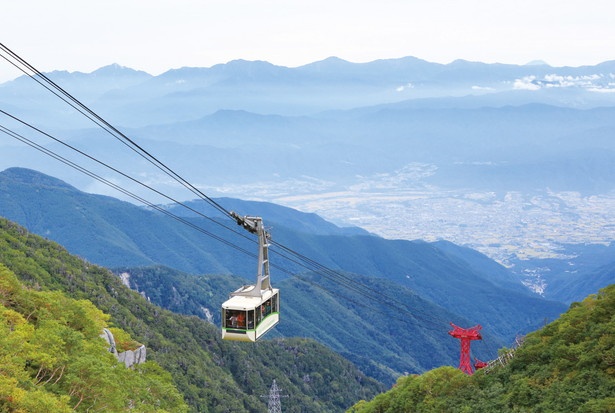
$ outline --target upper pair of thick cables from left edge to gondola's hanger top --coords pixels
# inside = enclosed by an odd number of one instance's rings
[[[104,129],[107,133],[109,133],[114,138],[116,138],[117,140],[122,142],[124,145],[129,147],[135,153],[139,154],[141,157],[146,159],[152,165],[154,165],[155,167],[160,169],[162,172],[164,172],[168,176],[170,176],[173,179],[175,179],[177,182],[182,184],[186,189],[189,189],[192,193],[194,193],[199,198],[201,198],[201,199],[205,200],[206,202],[208,202],[210,205],[212,205],[214,208],[218,209],[218,211],[222,212],[224,215],[232,218],[230,212],[226,208],[222,207],[219,203],[217,203],[216,201],[214,201],[213,199],[211,199],[210,197],[205,195],[201,190],[199,190],[198,188],[196,188],[195,186],[190,184],[186,179],[184,179],[179,174],[177,174],[175,171],[173,171],[171,168],[166,166],[162,161],[158,160],[155,156],[150,154],[147,150],[142,148],[140,145],[138,145],[136,142],[134,142],[132,139],[130,139],[128,136],[126,136],[124,133],[120,132],[113,125],[111,125],[109,122],[104,120],[102,117],[100,117],[97,113],[95,113],[93,110],[91,110],[85,104],[81,103],[77,98],[75,98],[70,93],[68,93],[66,90],[64,90],[62,87],[57,85],[55,82],[53,82],[51,79],[49,79],[45,74],[43,74],[42,72],[37,70],[34,66],[32,66],[27,61],[22,59],[19,55],[14,53],[12,50],[10,50],[8,47],[6,47],[4,44],[0,43],[0,49],[2,49],[5,53],[8,53],[14,60],[16,60],[19,63],[19,65],[24,66],[25,68],[27,68],[27,70],[25,70],[23,67],[20,67],[18,64],[15,64],[14,62],[10,61],[7,57],[2,56],[5,60],[7,60],[13,66],[15,66],[16,68],[21,70],[24,74],[26,74],[31,79],[33,79],[34,81],[39,83],[41,86],[43,86],[45,89],[47,89],[48,91],[53,93],[55,96],[57,96],[58,98],[63,100],[65,103],[67,103],[70,106],[72,106],[79,113],[81,113],[82,115],[84,115],[85,117],[90,119],[93,123],[95,123],[96,125],[98,125],[102,129]],[[31,73],[29,73],[28,71],[30,71]],[[44,82],[46,83],[46,85],[43,84],[43,82],[41,82],[41,80],[39,80],[39,78],[43,79]],[[55,89],[55,91],[51,90],[50,87]],[[64,97],[60,96],[58,93],[60,93]]]

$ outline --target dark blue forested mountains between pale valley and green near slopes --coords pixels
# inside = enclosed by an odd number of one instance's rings
[[[183,215],[214,237],[158,211],[87,194],[27,169],[2,172],[0,195],[6,218],[89,262],[114,268],[127,285],[153,302],[214,323],[219,322],[218,308],[226,294],[252,280],[256,271],[255,258],[234,248],[255,253],[256,244],[239,236],[234,222],[228,228],[219,212],[190,217],[199,208],[211,209],[203,202],[191,203]],[[240,214],[263,215],[276,245],[300,251],[327,268],[302,266],[289,259],[286,249],[271,247],[272,277],[287,309],[276,334],[315,338],[386,383],[404,372],[454,363],[458,343],[448,337],[450,321],[482,324],[484,343],[476,354],[492,358],[517,334],[565,310],[565,305],[531,293],[506,268],[467,248],[386,240],[278,205],[218,201]],[[181,217],[178,208],[166,206]],[[152,267],[160,265],[167,269]],[[357,337],[357,331],[363,333]]]

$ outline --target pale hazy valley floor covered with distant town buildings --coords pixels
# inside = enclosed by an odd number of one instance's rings
[[[430,185],[437,167],[357,177],[338,186],[317,179],[208,187],[214,195],[274,202],[387,239],[448,240],[511,267],[517,260],[568,258],[565,244],[615,239],[615,193],[482,191]]]

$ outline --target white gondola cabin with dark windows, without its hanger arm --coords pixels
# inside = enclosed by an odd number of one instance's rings
[[[277,288],[265,290],[262,297],[232,296],[222,304],[222,338],[258,340],[280,321],[279,309],[280,294]]]

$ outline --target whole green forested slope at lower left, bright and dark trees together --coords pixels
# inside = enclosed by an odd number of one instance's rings
[[[11,348],[18,343],[0,341],[3,360],[0,403],[15,403],[17,400],[24,403],[19,407],[5,405],[0,411],[69,411],[79,402],[78,391],[86,396],[90,394],[84,390],[85,386],[94,386],[88,380],[99,379],[104,383],[97,389],[109,391],[108,400],[105,399],[109,404],[99,410],[106,412],[139,411],[134,410],[132,397],[143,403],[144,411],[168,409],[181,412],[187,406],[190,412],[264,413],[267,399],[263,396],[268,395],[273,380],[289,396],[284,399],[284,411],[288,413],[343,412],[358,400],[370,399],[385,390],[381,383],[365,376],[348,360],[313,340],[225,342],[216,325],[151,304],[125,287],[109,270],[73,256],[60,245],[2,218],[0,263],[3,269],[0,300],[7,309],[5,311],[9,311],[5,317],[15,320],[3,324],[4,331],[14,328],[11,327],[13,324],[19,325],[21,327],[15,331],[19,330],[22,335],[32,334],[35,337],[32,346],[38,346],[32,347],[28,353]],[[10,291],[18,294],[13,296]],[[17,296],[26,297],[25,301],[17,300]],[[50,302],[49,306],[36,305],[44,300]],[[37,311],[32,312],[34,309]],[[35,324],[39,318],[41,322],[47,321]],[[114,369],[117,362],[104,351],[106,343],[99,338],[104,326],[110,326],[114,332],[121,329],[124,332],[122,341],[144,344],[148,362],[134,371],[121,364],[118,365],[121,369]],[[38,333],[41,335],[38,337],[37,331],[41,328],[44,330]],[[37,348],[43,346],[39,340],[47,339],[42,332],[48,329],[70,333],[71,337],[78,335],[82,350],[67,348],[70,357],[50,350],[49,360],[34,358]],[[8,334],[3,334],[0,340],[9,338],[20,341],[18,336]],[[75,358],[75,353],[84,358]],[[54,361],[53,357],[68,360],[64,372],[62,366],[65,364],[62,360]],[[101,358],[92,364],[97,375],[86,370],[83,376],[78,376],[79,373],[73,374],[73,370],[69,370],[73,362],[90,363],[96,357]],[[4,362],[9,359],[11,363]],[[107,364],[111,372],[106,371],[104,363],[112,364]],[[41,366],[43,369],[39,373]],[[114,374],[124,376],[114,379]],[[136,387],[132,389],[129,376],[134,374],[141,375],[134,379]],[[39,382],[41,378],[43,380]],[[82,385],[84,389],[73,389],[71,383]],[[152,393],[140,393],[139,383],[150,388]],[[114,389],[114,386],[119,388]],[[127,387],[131,394],[136,394],[129,397],[122,393]],[[156,400],[157,388],[167,389],[166,399],[160,402]],[[37,397],[33,396],[34,393]],[[124,404],[118,405],[119,400]],[[48,406],[56,403],[54,406],[58,408],[41,410],[40,405],[28,404],[35,402],[47,403]],[[91,403],[82,401],[77,411],[88,411]]]

